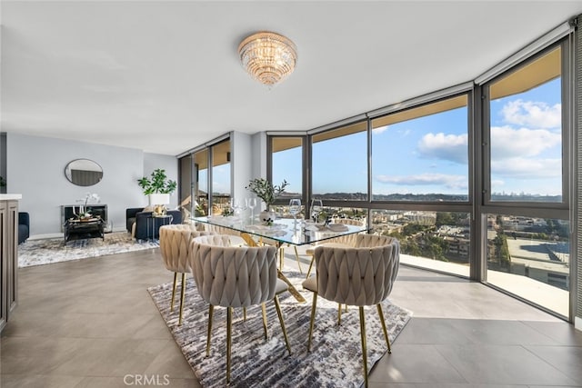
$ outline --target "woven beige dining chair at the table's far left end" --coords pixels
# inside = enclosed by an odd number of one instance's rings
[[[178,325],[182,325],[182,314],[184,312],[184,299],[186,295],[186,274],[190,273],[190,241],[199,235],[214,234],[214,232],[197,231],[193,224],[170,224],[160,226],[160,253],[168,271],[174,273],[174,284],[172,287],[172,300],[170,311],[174,311],[174,300],[176,298],[176,284],[178,274],[182,274],[182,294],[180,298],[180,314]]]

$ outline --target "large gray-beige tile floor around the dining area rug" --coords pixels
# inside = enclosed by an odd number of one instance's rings
[[[0,387],[199,386],[146,291],[172,279],[157,249],[19,276]],[[582,332],[503,293],[401,266],[390,299],[414,316],[372,387],[582,386]]]

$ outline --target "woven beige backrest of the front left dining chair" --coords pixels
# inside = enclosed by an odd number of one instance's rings
[[[246,307],[275,297],[276,247],[226,246],[228,235],[192,239],[190,266],[198,293],[212,305]]]

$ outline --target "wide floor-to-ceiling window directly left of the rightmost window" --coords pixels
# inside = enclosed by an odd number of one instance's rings
[[[371,225],[402,262],[469,275],[469,95],[371,121]],[[462,210],[462,211],[459,211]]]

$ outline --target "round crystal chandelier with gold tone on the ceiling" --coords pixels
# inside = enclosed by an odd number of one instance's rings
[[[249,75],[271,86],[293,73],[297,47],[283,35],[262,31],[246,37],[238,45],[238,55]]]

